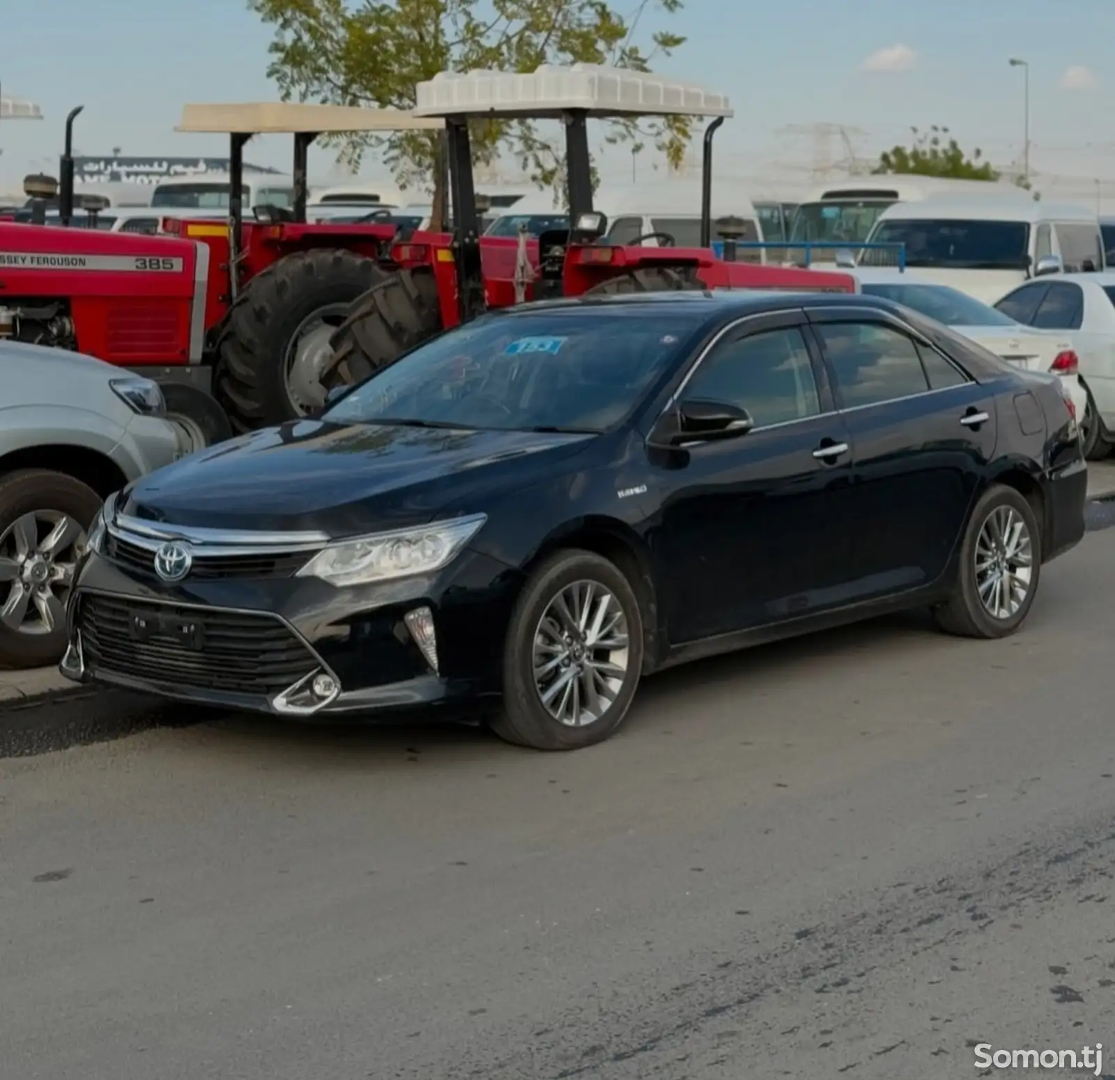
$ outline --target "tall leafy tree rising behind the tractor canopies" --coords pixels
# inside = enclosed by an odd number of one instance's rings
[[[685,0],[632,0],[623,14],[609,0],[248,0],[274,28],[268,75],[283,100],[413,108],[415,86],[439,71],[533,71],[542,64],[607,64],[649,70],[685,38],[641,31],[657,9],[681,10]],[[610,121],[607,140],[644,144],[679,165],[691,134],[687,117]],[[478,163],[508,150],[540,186],[559,188],[564,153],[531,121],[485,121],[472,132]],[[440,205],[440,138],[436,133],[347,136],[334,140],[353,167],[381,153],[400,187],[423,186]],[[436,210],[435,210],[436,212]],[[435,223],[439,224],[439,223]]]

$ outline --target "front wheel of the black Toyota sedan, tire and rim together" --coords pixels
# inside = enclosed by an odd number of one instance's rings
[[[512,613],[492,728],[535,750],[602,742],[631,707],[642,656],[642,612],[622,571],[592,552],[558,552],[536,567]]]

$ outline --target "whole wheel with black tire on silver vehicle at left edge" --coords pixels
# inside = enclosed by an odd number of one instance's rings
[[[21,469],[0,478],[0,664],[41,668],[61,660],[76,565],[103,503],[93,488],[64,473]],[[43,542],[64,517],[71,523],[68,532],[47,551]],[[25,562],[17,564],[20,555]],[[12,574],[22,578],[35,570],[28,558],[46,571],[41,580],[36,574],[21,581],[17,591]]]

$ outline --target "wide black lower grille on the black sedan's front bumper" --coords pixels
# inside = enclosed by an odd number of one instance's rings
[[[93,672],[159,685],[272,697],[321,667],[285,623],[264,614],[81,593],[76,625]]]

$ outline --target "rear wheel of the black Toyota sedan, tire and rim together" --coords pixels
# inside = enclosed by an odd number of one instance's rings
[[[1041,533],[1030,504],[996,484],[972,510],[949,599],[933,614],[946,633],[1006,638],[1029,614],[1041,576]]]

